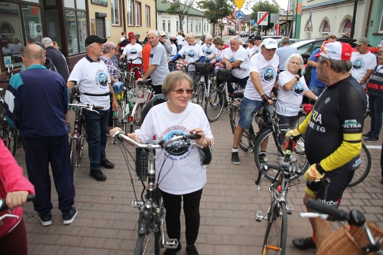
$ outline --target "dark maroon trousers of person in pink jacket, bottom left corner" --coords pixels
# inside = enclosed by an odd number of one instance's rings
[[[0,238],[0,254],[28,254],[27,230],[22,218],[10,233]]]

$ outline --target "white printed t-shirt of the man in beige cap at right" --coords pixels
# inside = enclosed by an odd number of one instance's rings
[[[368,52],[367,54],[360,54],[354,52],[351,55],[352,67],[350,73],[356,81],[361,82],[365,77],[367,70],[373,70],[376,66],[376,57],[374,54]],[[363,88],[366,88],[367,82],[362,84]]]

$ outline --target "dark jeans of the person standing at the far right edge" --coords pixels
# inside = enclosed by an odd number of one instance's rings
[[[383,114],[383,96],[370,93],[368,97],[368,105],[371,115],[371,129],[370,132],[374,137],[379,137],[382,114]]]

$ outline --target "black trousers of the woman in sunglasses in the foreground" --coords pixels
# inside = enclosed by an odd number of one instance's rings
[[[183,213],[185,214],[186,244],[193,245],[198,237],[200,228],[200,200],[202,189],[184,195],[173,195],[161,190],[166,209],[166,232],[171,239],[181,238],[181,200],[183,197]]]

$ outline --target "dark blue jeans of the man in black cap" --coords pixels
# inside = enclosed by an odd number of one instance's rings
[[[101,169],[100,163],[106,160],[105,146],[106,146],[106,134],[108,133],[108,119],[109,111],[95,110],[95,112],[89,112],[84,110],[85,126],[88,134],[88,151],[90,171],[98,171]]]

